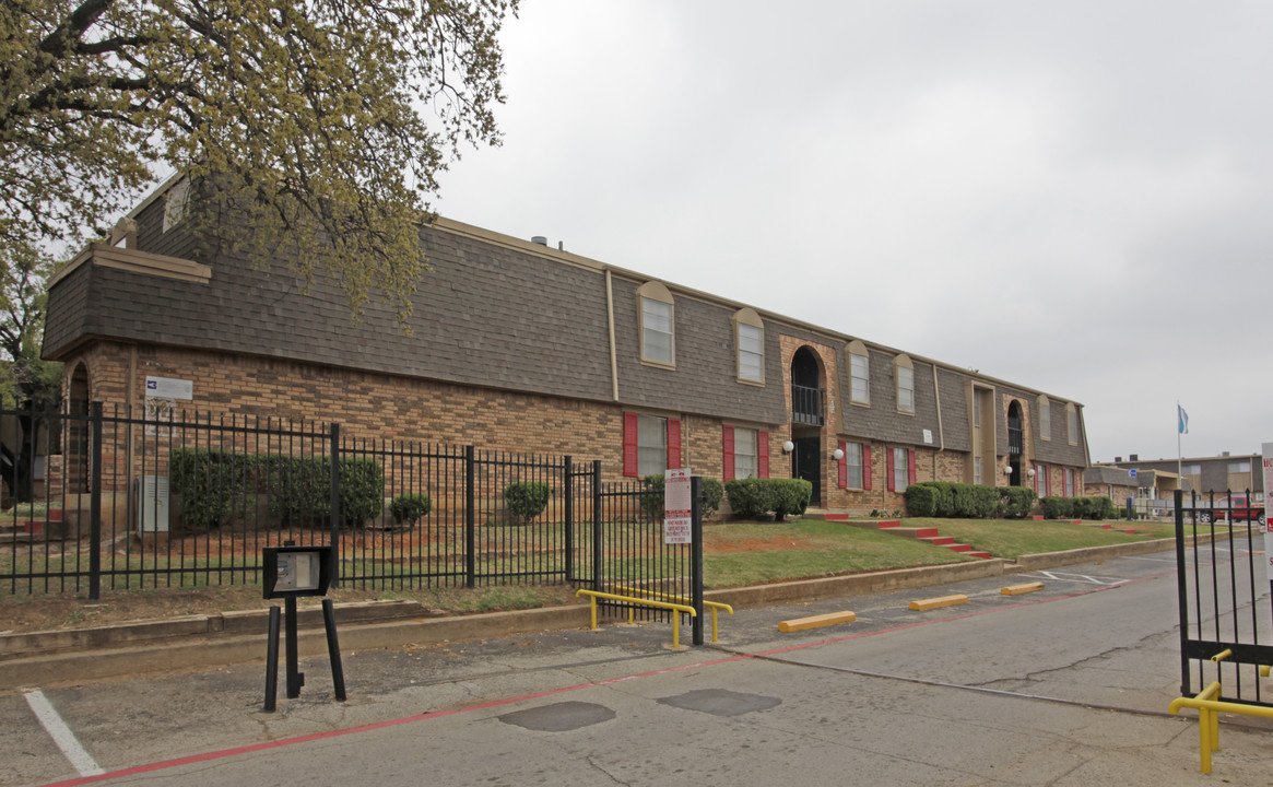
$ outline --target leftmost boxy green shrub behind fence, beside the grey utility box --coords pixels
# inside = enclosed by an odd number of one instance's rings
[[[233,451],[173,451],[168,474],[173,493],[181,495],[182,522],[197,530],[228,525],[247,499],[252,458]]]

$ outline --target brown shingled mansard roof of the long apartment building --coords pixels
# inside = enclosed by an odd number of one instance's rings
[[[766,326],[778,329],[765,331],[768,385],[741,386],[729,317],[746,304],[665,283],[676,297],[677,368],[670,383],[666,369],[636,360],[635,290],[648,276],[444,218],[420,233],[432,271],[414,297],[406,335],[391,309],[373,303],[354,321],[339,287],[318,279],[306,292],[303,280],[281,262],[253,267],[227,256],[197,259],[182,225],[163,232],[162,194],[163,187],[132,213],[135,250],[93,246],[53,279],[46,358],[65,358],[92,339],[117,339],[779,423],[785,416],[782,385],[774,385],[783,379],[778,332],[841,353],[858,339],[756,309]],[[900,354],[863,341],[873,364]],[[942,419],[962,418],[962,382],[969,377],[1009,395],[1040,395],[910,358],[917,362],[917,395],[936,374]],[[848,383],[844,365],[838,364],[841,390]],[[937,416],[936,404],[932,408]],[[895,428],[878,429],[863,437],[896,438]],[[962,432],[966,436],[966,427]]]

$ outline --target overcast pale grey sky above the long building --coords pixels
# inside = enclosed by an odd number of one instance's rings
[[[1273,4],[523,0],[447,216],[1080,401],[1094,461],[1273,442]]]

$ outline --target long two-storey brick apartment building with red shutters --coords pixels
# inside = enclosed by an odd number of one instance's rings
[[[805,478],[847,511],[904,508],[923,480],[1082,493],[1076,401],[440,218],[406,335],[283,261],[201,255],[173,186],[50,284],[43,357],[73,406],[140,411],[163,378],[193,411],[570,453],[608,478]]]

